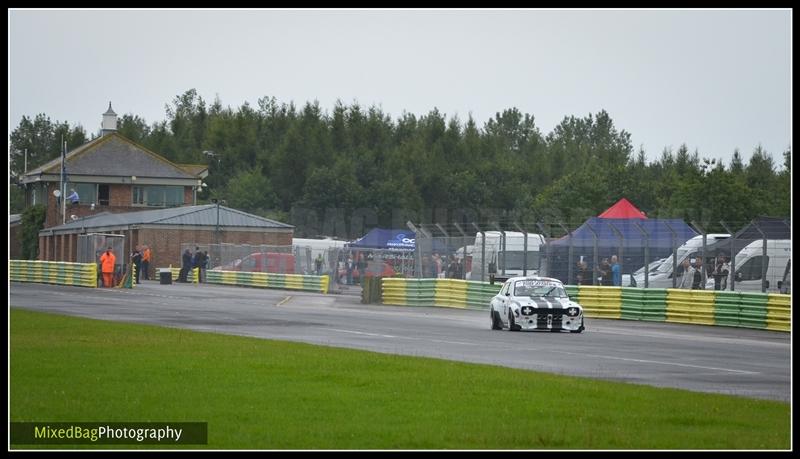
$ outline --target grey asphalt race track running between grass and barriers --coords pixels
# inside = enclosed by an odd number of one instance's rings
[[[135,289],[10,283],[13,307],[302,341],[789,402],[791,336],[586,319],[582,334],[491,331],[489,314],[362,305],[347,295],[146,282]]]

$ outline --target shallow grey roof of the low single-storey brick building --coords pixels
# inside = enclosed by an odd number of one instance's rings
[[[219,215],[219,217],[218,217]],[[219,220],[217,220],[219,218]],[[258,215],[248,214],[230,207],[219,206],[217,214],[216,204],[202,206],[171,207],[169,209],[143,210],[125,213],[100,213],[91,217],[42,230],[40,234],[76,233],[98,230],[123,230],[130,226],[192,226],[215,229],[219,222],[220,228],[226,230],[236,228],[263,228],[263,229],[291,229],[292,225],[281,223]]]

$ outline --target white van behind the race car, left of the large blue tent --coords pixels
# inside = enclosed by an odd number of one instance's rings
[[[483,234],[486,234],[486,258],[483,259]],[[489,268],[492,264],[497,276],[514,277],[522,276],[525,265],[525,235],[519,231],[506,231],[506,250],[503,252],[503,235],[500,231],[486,231],[475,235],[475,244],[472,248],[472,272],[470,279],[489,280]],[[539,273],[539,251],[545,244],[541,234],[528,233],[527,275],[536,276]],[[483,270],[481,270],[483,266]],[[505,272],[504,272],[505,268]]]

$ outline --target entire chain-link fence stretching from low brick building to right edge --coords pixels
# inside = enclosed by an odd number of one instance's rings
[[[413,250],[361,249],[343,241],[291,246],[184,243],[207,269],[330,275],[339,286],[365,277],[488,281],[540,275],[569,285],[617,285],[740,292],[791,292],[791,222],[761,217],[706,224],[679,219],[415,224]]]

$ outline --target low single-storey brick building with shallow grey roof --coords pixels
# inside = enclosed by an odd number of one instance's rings
[[[78,235],[88,233],[125,236],[126,260],[133,247],[150,246],[156,268],[180,266],[181,244],[291,246],[294,227],[216,204],[103,213],[40,231],[39,259],[77,261]]]

